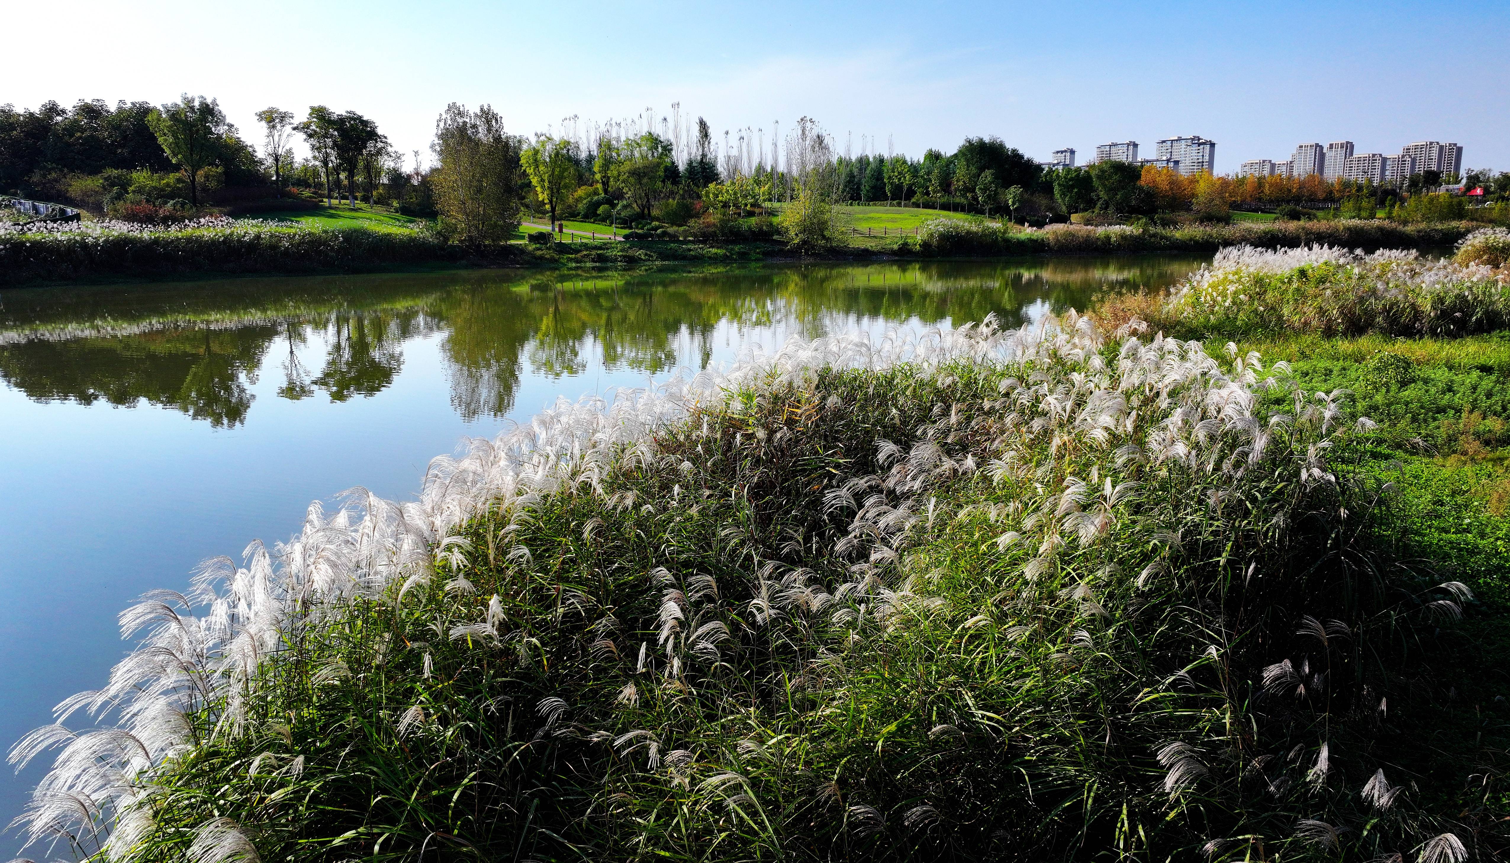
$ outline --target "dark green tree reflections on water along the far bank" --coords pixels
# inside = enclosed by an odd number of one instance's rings
[[[933,324],[997,312],[1016,324],[1083,308],[1107,285],[1169,285],[1196,264],[1146,256],[494,270],[0,291],[0,379],[38,401],[145,401],[236,427],[252,409],[248,385],[260,370],[284,376],[279,398],[323,392],[346,401],[388,388],[405,344],[435,336],[451,406],[470,421],[507,413],[525,365],[553,377],[595,362],[658,374],[689,342],[695,352],[681,362],[705,365],[720,323],[782,324],[806,338],[855,320]]]

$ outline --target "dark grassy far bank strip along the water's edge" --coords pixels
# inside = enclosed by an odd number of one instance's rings
[[[1146,252],[1214,253],[1235,244],[1296,247],[1311,243],[1348,249],[1436,249],[1481,225],[1397,225],[1391,222],[1290,222],[1196,228],[1080,228],[1045,231],[971,226],[938,237],[903,238],[891,247],[840,246],[797,256],[782,243],[624,241],[527,243],[461,247],[424,234],[314,229],[261,222],[186,229],[83,229],[0,234],[0,285],[77,281],[214,276],[243,273],[361,273],[447,267],[619,267],[660,263],[735,263],[1001,255],[1105,255]]]

